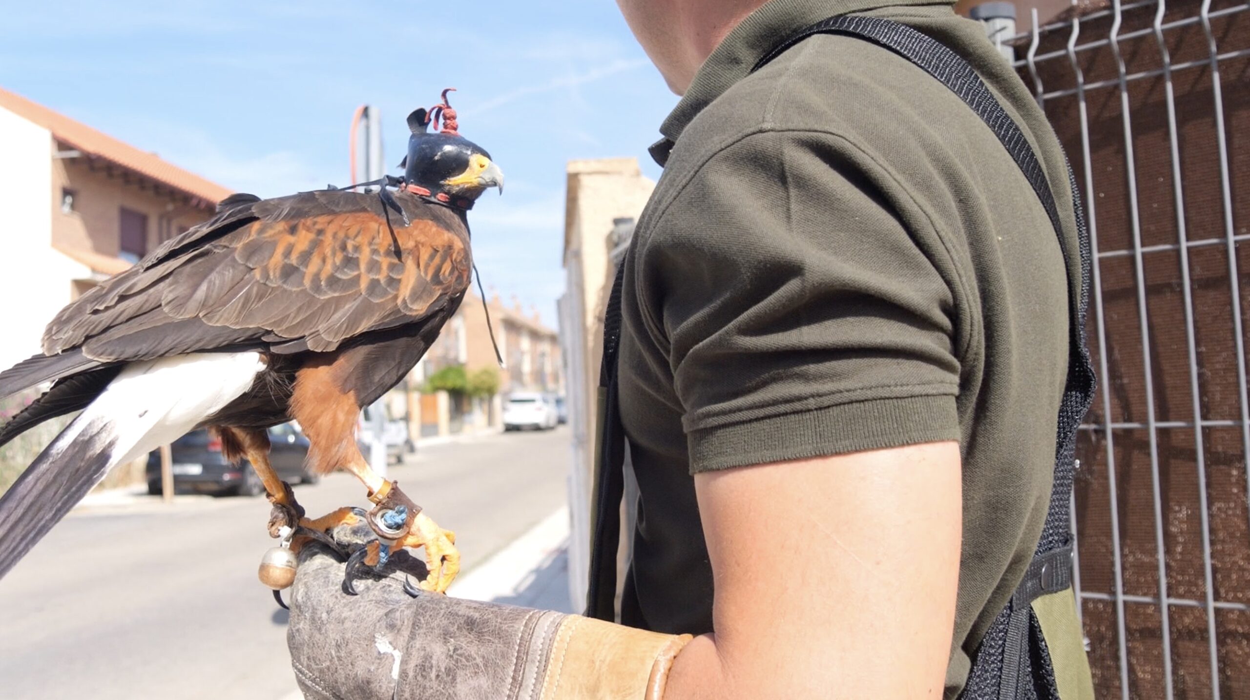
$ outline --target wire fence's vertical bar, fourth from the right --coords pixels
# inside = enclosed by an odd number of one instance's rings
[[[1088,212],[1086,225],[1089,226],[1090,234],[1090,258],[1092,276],[1091,291],[1094,294],[1094,311],[1098,316],[1098,364],[1099,364],[1099,376],[1102,381],[1106,381],[1108,368],[1106,368],[1106,312],[1102,309],[1102,276],[1101,276],[1101,262],[1098,256],[1098,212],[1095,210],[1095,198],[1094,198],[1094,165],[1090,158],[1090,124],[1089,124],[1089,106],[1085,101],[1085,72],[1081,70],[1080,61],[1076,59],[1076,40],[1081,35],[1081,18],[1078,10],[1076,0],[1072,0],[1072,30],[1068,35],[1068,61],[1072,66],[1072,74],[1076,78],[1076,105],[1078,114],[1080,115],[1081,125],[1081,164],[1084,166],[1084,180],[1085,180],[1085,211]],[[1124,624],[1124,568],[1122,556],[1120,554],[1120,506],[1119,499],[1116,498],[1115,486],[1115,445],[1114,436],[1111,434],[1111,395],[1106,390],[1106,384],[1099,391],[1102,396],[1102,436],[1106,444],[1106,482],[1108,491],[1110,494],[1110,516],[1111,516],[1111,575],[1114,579],[1115,591],[1115,626],[1116,626],[1116,645],[1119,652],[1119,668],[1120,668],[1120,696],[1122,700],[1129,700],[1129,635],[1125,630]]]

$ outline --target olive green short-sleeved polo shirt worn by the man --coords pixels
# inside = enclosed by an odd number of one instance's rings
[[[1041,532],[1080,262],[994,134],[906,59],[820,35],[749,74],[848,12],[971,62],[1078,250],[1060,146],[980,24],[890,0],[772,0],[744,20],[661,128],[671,151],[655,149],[664,175],[625,262],[620,406],[640,495],[622,621],[712,629],[692,474],[958,440],[954,696]]]

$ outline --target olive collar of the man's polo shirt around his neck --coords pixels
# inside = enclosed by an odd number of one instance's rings
[[[769,49],[800,29],[834,15],[906,5],[950,5],[954,0],[770,0],[746,16],[708,56],[690,89],[660,125],[664,135],[651,146],[661,166],[681,131],[712,100],[746,78]]]

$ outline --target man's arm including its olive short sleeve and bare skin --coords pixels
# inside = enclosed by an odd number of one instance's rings
[[[764,132],[708,160],[648,241],[715,581],[715,636],[671,698],[942,692],[956,295],[908,205],[835,136]]]

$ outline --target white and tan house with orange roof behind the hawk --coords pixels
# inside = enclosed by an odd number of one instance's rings
[[[61,306],[230,194],[0,89],[0,365],[35,352]]]

